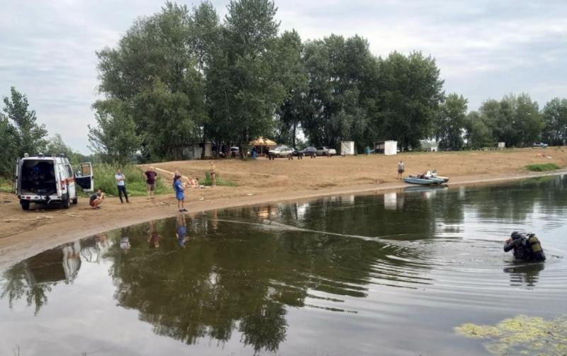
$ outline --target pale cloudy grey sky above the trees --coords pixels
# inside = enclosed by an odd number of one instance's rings
[[[224,18],[228,0],[211,2]],[[0,97],[15,86],[50,134],[89,154],[91,105],[101,98],[95,52],[115,47],[136,18],[163,4],[0,0]],[[540,108],[567,97],[566,0],[278,0],[276,6],[280,30],[296,29],[303,40],[360,35],[376,56],[430,54],[444,91],[468,98],[469,110],[507,93],[529,93]]]

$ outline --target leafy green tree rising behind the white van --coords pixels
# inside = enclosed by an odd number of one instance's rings
[[[4,117],[13,122],[13,127],[18,132],[18,156],[24,153],[37,154],[39,151],[45,151],[47,143],[47,130],[45,125],[39,125],[35,110],[29,110],[27,96],[23,95],[13,86],[10,89],[10,98],[4,98]]]

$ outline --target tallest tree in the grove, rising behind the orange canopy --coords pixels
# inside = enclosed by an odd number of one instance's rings
[[[228,115],[232,139],[241,151],[255,137],[274,127],[274,114],[285,96],[278,76],[277,8],[269,0],[230,1],[225,18],[226,54],[220,58],[225,72],[223,113]]]

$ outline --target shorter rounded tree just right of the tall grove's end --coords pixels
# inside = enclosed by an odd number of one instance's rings
[[[435,122],[435,136],[440,149],[461,149],[468,101],[462,95],[451,93],[439,106]]]

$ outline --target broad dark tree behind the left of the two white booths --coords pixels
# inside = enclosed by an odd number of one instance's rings
[[[341,140],[363,141],[369,128],[366,104],[377,62],[366,40],[331,35],[305,46],[308,115],[303,129],[313,144],[337,147]]]

